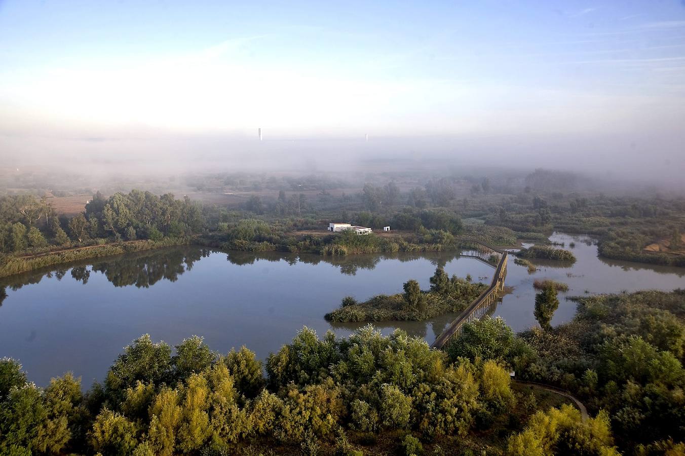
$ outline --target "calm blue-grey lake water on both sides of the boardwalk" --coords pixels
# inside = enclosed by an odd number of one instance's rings
[[[685,269],[643,266],[597,258],[590,238],[572,240],[573,266],[538,262],[529,275],[513,261],[495,315],[515,329],[536,325],[534,279],[568,283],[566,295],[585,291],[620,292],[685,286]],[[346,295],[366,299],[401,292],[404,281],[428,288],[436,266],[449,274],[488,282],[493,268],[454,253],[423,255],[319,255],[224,253],[197,247],[174,247],[93,260],[41,273],[5,279],[8,297],[0,306],[0,356],[20,359],[39,385],[72,370],[84,386],[102,379],[123,346],[142,333],[178,344],[203,335],[214,350],[227,352],[245,344],[265,359],[289,342],[303,325],[323,335],[332,329],[348,335],[358,325],[332,325],[323,315]],[[564,267],[559,267],[564,266]],[[562,294],[563,296],[563,294]],[[573,318],[575,303],[561,299],[553,324]],[[377,324],[385,333],[401,327],[432,342],[454,315],[427,322]]]

